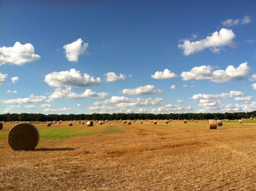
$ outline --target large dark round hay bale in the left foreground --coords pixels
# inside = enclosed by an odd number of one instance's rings
[[[8,144],[13,150],[32,150],[39,142],[39,132],[30,123],[19,123],[8,133]]]

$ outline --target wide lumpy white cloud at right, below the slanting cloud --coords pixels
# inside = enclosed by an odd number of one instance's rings
[[[244,80],[245,76],[250,74],[251,67],[247,65],[247,62],[241,63],[239,67],[235,68],[229,65],[226,70],[213,71],[212,66],[202,65],[200,67],[194,67],[189,72],[182,72],[182,80],[210,80],[215,83],[227,83],[230,80]]]

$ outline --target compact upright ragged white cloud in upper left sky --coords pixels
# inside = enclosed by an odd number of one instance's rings
[[[72,42],[70,44],[66,44],[63,46],[63,48],[66,50],[66,58],[68,59],[68,61],[73,61],[73,62],[78,61],[78,56],[80,54],[86,54],[88,47],[89,47],[89,44],[83,43],[82,39],[78,39],[75,42]]]

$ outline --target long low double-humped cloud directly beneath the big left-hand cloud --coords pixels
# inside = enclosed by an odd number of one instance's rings
[[[56,88],[54,93],[49,95],[48,98],[50,98],[50,99],[61,99],[61,98],[80,99],[80,98],[84,98],[84,97],[105,98],[108,95],[109,95],[108,93],[105,93],[105,92],[97,93],[96,91],[92,91],[90,89],[86,89],[85,92],[83,92],[81,94],[77,94],[75,92],[72,92],[70,87],[68,87],[66,89],[61,89],[59,87],[59,88]]]

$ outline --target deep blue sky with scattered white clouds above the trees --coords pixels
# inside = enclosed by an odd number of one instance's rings
[[[256,110],[255,1],[0,1],[0,113]]]

